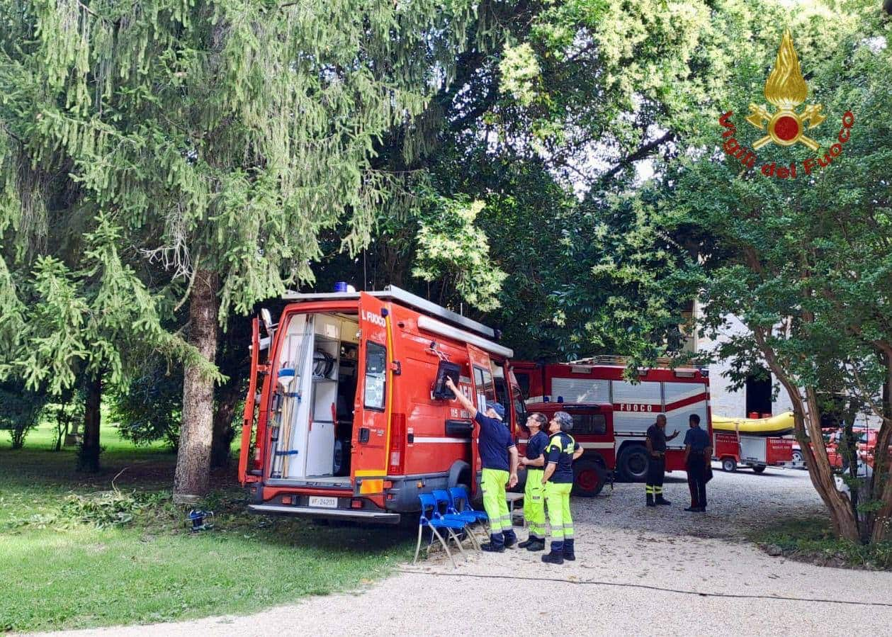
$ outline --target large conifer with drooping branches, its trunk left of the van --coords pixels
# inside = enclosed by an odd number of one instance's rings
[[[21,308],[68,302],[96,320],[100,299],[131,308],[135,327],[151,324],[141,342],[187,359],[175,495],[202,494],[214,380],[202,361],[214,360],[220,325],[311,280],[320,230],[346,219],[344,246],[368,241],[394,187],[373,170],[373,145],[449,79],[471,15],[469,2],[428,0],[4,4],[0,295],[11,311],[0,331],[17,352],[7,373],[37,356],[57,368],[56,385],[84,361],[119,381],[125,341],[105,339],[100,356],[69,321],[67,338],[35,354],[48,325],[28,327]],[[100,224],[94,243],[134,265],[85,263],[81,237]],[[140,259],[181,286],[191,347],[162,333],[148,290],[168,280],[142,281]],[[43,289],[28,281],[35,263],[53,277]],[[54,281],[69,284],[63,298]]]

